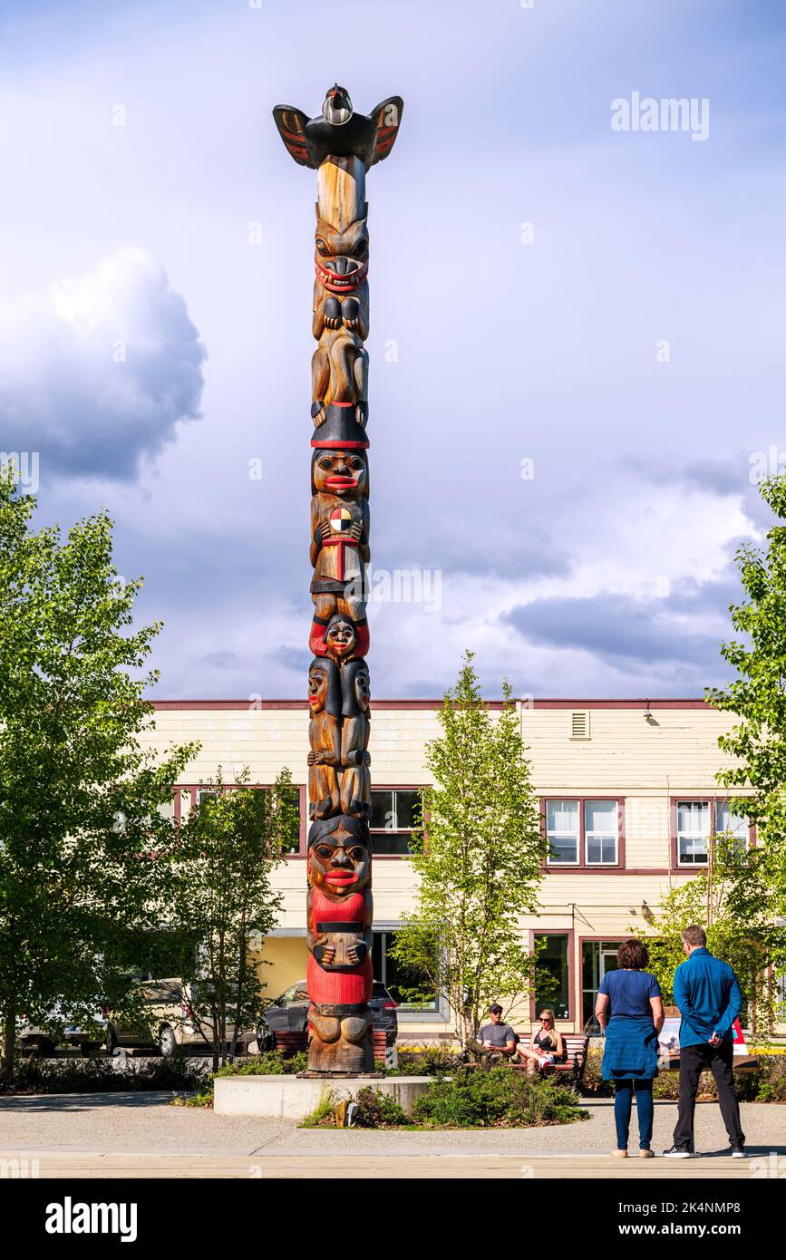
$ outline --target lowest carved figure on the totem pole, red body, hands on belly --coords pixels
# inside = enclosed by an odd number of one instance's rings
[[[314,1071],[373,1071],[368,824],[339,814],[309,832],[306,939]]]

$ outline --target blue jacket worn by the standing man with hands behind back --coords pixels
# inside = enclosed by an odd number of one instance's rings
[[[674,973],[674,1000],[683,1017],[680,1046],[704,1046],[717,1033],[733,1040],[732,1024],[742,1011],[742,993],[728,963],[708,949],[694,949]]]

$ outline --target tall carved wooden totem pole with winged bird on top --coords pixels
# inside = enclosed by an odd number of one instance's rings
[[[273,118],[290,155],[316,170],[311,330],[309,648],[309,1075],[372,1072],[372,844],[365,573],[369,552],[368,228],[365,174],[388,156],[404,103],[355,113],[335,84],[309,118]]]

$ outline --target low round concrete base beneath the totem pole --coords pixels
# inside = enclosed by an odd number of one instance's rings
[[[433,1085],[433,1076],[383,1076],[378,1080],[368,1076],[219,1076],[214,1082],[213,1110],[219,1115],[302,1120],[314,1111],[325,1090],[331,1090],[340,1101],[370,1086],[389,1095],[408,1114],[430,1085]]]

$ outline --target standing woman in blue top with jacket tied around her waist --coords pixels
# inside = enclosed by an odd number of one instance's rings
[[[639,1154],[650,1159],[652,1140],[652,1079],[658,1074],[658,1033],[663,1028],[664,1009],[660,985],[644,968],[650,951],[642,941],[622,941],[617,950],[617,971],[607,971],[601,980],[595,1014],[606,1033],[603,1046],[603,1080],[615,1082],[615,1121],[617,1149],[615,1155],[627,1155],[634,1090],[639,1116]]]

